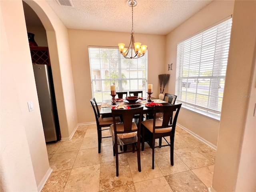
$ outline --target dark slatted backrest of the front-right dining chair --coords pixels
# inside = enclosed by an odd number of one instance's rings
[[[182,104],[169,106],[154,106],[153,133],[155,133],[156,129],[169,127],[172,127],[171,132],[175,132],[176,122],[181,105]],[[163,114],[161,126],[156,126],[156,117],[158,113]]]

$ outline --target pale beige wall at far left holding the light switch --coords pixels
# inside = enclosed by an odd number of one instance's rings
[[[0,5],[1,186],[4,191],[38,191],[50,167],[22,1]],[[32,112],[28,101],[34,103]]]

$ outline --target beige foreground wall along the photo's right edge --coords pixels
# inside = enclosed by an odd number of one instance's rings
[[[256,1],[235,1],[212,183],[217,192],[256,191],[255,42]]]

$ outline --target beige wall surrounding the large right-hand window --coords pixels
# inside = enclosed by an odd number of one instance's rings
[[[170,93],[175,92],[176,54],[178,42],[214,25],[233,13],[234,1],[213,1],[166,36],[166,65],[173,64],[168,84]],[[219,122],[182,108],[178,124],[217,146]]]

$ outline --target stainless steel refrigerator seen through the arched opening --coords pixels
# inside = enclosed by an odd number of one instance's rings
[[[46,142],[60,140],[60,126],[50,66],[33,64]]]

